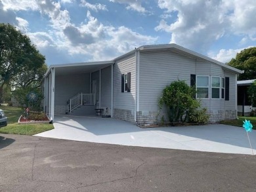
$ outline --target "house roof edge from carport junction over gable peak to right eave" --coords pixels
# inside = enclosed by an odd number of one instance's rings
[[[228,69],[228,71],[232,71],[232,73],[236,73],[236,74],[243,73],[243,71],[241,71],[240,69],[236,69],[234,67],[228,66],[226,64],[223,64],[222,62],[213,60],[212,58],[204,56],[203,54],[199,54],[198,52],[194,52],[188,48],[181,47],[175,43],[163,44],[163,45],[143,45],[139,48],[135,48],[135,50],[127,52],[127,54],[123,54],[122,56],[115,58],[114,60],[119,60],[121,58],[124,58],[125,56],[132,54],[136,51],[154,51],[154,50],[171,50],[173,52],[177,52],[178,54],[182,54],[182,55],[190,57],[190,58],[212,62],[221,67],[224,67],[225,69]]]

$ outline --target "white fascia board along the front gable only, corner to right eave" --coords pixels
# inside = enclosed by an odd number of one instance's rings
[[[164,44],[164,45],[145,45],[142,47],[139,47],[139,50],[161,50],[161,49],[171,49],[171,48],[177,48],[178,50],[181,50],[183,52],[186,52],[188,54],[192,54],[196,56],[197,58],[202,58],[203,60],[207,60],[209,62],[213,62],[219,66],[222,66],[226,69],[229,69],[230,71],[233,71],[236,74],[244,73],[244,71],[241,71],[240,69],[236,69],[234,67],[228,66],[226,64],[223,64],[222,62],[218,62],[217,60],[213,60],[212,58],[209,58],[207,56],[204,56],[203,54],[200,54],[198,52],[194,52],[188,48],[181,47],[175,43],[171,44]]]

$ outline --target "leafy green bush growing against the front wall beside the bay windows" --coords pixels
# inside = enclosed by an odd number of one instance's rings
[[[196,119],[203,119],[205,122],[209,120],[209,115],[201,113],[202,110],[198,109],[200,107],[200,102],[194,99],[196,94],[195,87],[188,86],[185,81],[173,81],[169,86],[163,89],[162,96],[158,102],[160,109],[163,105],[167,106],[167,113],[169,121],[171,123],[178,122],[195,122]],[[198,115],[206,115],[205,118],[199,118]],[[196,118],[198,117],[198,118]]]

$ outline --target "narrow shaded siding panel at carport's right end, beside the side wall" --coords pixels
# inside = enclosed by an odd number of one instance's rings
[[[111,66],[101,70],[101,107],[111,107]]]

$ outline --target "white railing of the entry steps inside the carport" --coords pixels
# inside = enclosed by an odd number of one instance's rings
[[[79,93],[68,100],[68,111],[71,112],[80,106],[95,105],[95,94]]]

